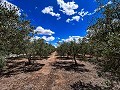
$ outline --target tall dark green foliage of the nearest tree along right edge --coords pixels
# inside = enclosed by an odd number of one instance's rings
[[[88,38],[93,55],[103,58],[105,71],[120,75],[120,3],[113,0],[104,8],[104,18],[88,28]]]

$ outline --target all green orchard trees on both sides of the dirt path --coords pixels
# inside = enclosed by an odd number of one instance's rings
[[[101,8],[102,17],[88,27],[87,35],[78,42],[73,40],[59,43],[56,49],[58,55],[72,57],[76,65],[79,56],[85,60],[86,55],[90,55],[95,58],[95,62],[102,59],[105,71],[117,72],[120,75],[119,7],[119,0],[112,0],[112,4]],[[5,65],[10,54],[22,54],[31,64],[32,57],[46,57],[55,51],[54,46],[43,39],[30,40],[34,36],[35,27],[24,14],[18,15],[17,11],[16,8],[7,9],[0,5],[0,68]]]

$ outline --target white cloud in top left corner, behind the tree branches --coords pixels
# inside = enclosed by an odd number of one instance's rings
[[[21,15],[21,10],[18,8],[18,6],[8,2],[7,0],[0,0],[0,4],[8,10],[17,9],[18,11],[16,12],[16,14],[18,14],[19,16]]]

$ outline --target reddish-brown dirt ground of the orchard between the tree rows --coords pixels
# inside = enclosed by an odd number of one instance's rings
[[[72,88],[78,81],[106,86],[107,79],[99,77],[96,65],[89,62],[77,61],[78,66],[74,67],[72,60],[60,60],[56,52],[37,62],[42,65],[38,71],[0,77],[0,90],[89,90]],[[115,90],[120,90],[118,87]]]

